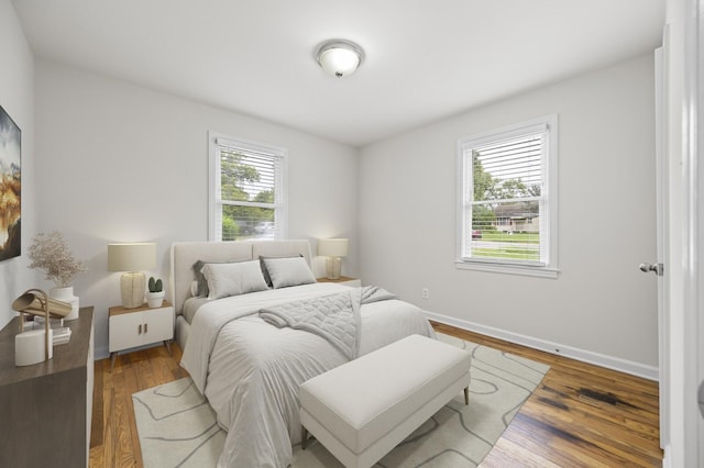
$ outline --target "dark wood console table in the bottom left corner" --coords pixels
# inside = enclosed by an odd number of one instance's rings
[[[94,382],[92,307],[64,322],[67,344],[32,366],[14,365],[19,317],[0,331],[0,467],[87,467]]]

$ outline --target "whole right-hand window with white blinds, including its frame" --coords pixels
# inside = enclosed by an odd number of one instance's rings
[[[557,277],[557,124],[458,142],[459,268]]]

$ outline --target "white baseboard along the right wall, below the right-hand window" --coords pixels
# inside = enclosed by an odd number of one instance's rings
[[[658,381],[659,371],[654,366],[647,366],[640,363],[622,359],[618,357],[606,356],[559,343],[548,342],[544,339],[534,338],[531,336],[508,332],[493,326],[480,325],[479,323],[460,320],[435,312],[424,311],[426,316],[436,322],[463,328],[469,332],[481,333],[482,335],[492,336],[494,338],[504,339],[517,345],[527,346],[529,348],[539,349],[558,356],[569,357],[582,363],[593,364],[607,369],[618,370],[619,372],[630,374],[631,376],[642,377],[644,379]]]

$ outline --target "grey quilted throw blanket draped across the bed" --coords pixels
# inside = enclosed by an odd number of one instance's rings
[[[350,288],[350,291],[262,309],[260,316],[279,328],[290,326],[315,333],[354,359],[360,348],[360,307],[387,299],[396,299],[396,294],[375,286]]]

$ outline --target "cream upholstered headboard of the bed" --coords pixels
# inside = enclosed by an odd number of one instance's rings
[[[279,257],[302,255],[311,266],[308,241],[234,241],[234,242],[175,242],[172,244],[169,278],[170,300],[176,314],[180,314],[184,301],[190,297],[194,281],[193,265],[204,261],[244,261],[260,256]]]

